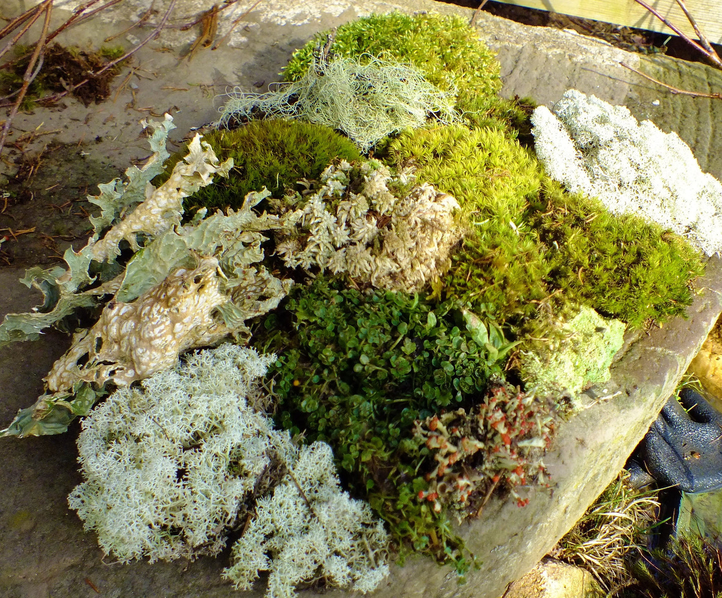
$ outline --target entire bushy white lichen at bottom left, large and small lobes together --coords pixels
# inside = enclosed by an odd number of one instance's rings
[[[225,571],[240,589],[259,571],[271,571],[269,597],[321,579],[369,592],[388,575],[383,523],[339,488],[331,448],[297,449],[258,411],[275,359],[232,344],[188,355],[83,420],[85,481],[68,501],[106,554],[216,555],[245,521]]]

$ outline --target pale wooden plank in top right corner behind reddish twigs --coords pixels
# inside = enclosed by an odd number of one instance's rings
[[[569,14],[597,21],[627,25],[651,31],[674,34],[660,20],[634,0],[500,0],[504,4],[526,6]],[[647,0],[667,20],[695,39],[695,31],[675,0]],[[686,0],[687,9],[712,43],[722,43],[722,3],[720,0]]]

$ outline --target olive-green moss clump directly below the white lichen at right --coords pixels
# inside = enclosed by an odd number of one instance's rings
[[[686,316],[690,281],[704,272],[683,238],[636,215],[614,216],[597,199],[568,194],[546,179],[529,212],[547,281],[633,328]]]

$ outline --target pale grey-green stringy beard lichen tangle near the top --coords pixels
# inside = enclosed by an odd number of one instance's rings
[[[363,152],[384,137],[458,118],[452,94],[442,92],[414,66],[370,58],[316,61],[293,83],[264,94],[234,92],[221,108],[219,126],[250,118],[300,118],[339,129]]]

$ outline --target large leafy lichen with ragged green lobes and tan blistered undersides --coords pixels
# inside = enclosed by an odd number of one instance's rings
[[[168,127],[163,130],[167,134]],[[155,135],[152,139],[152,147],[158,149],[160,141]],[[227,174],[232,165],[229,161],[222,168],[214,166],[217,158],[212,149],[201,147],[196,136],[187,163],[179,162],[157,189],[146,180],[145,169],[131,172],[124,188],[132,191],[144,181],[147,198],[132,211],[133,202],[123,199],[123,194],[116,193],[113,207],[113,194],[104,191],[98,220],[107,224],[116,219],[108,233],[99,241],[92,238],[77,254],[69,249],[69,269],[28,274],[41,281],[47,298],[57,300],[56,320],[77,306],[92,306],[103,295],[112,298],[96,324],[76,332],[70,349],[53,365],[45,379],[46,394],[20,410],[0,434],[62,432],[74,417],[87,415],[97,399],[95,393],[105,384],[125,386],[142,380],[172,368],[181,352],[214,345],[225,337],[247,341],[250,330],[245,321],[276,308],[284,298],[291,281],[277,279],[260,264],[261,243],[266,240],[261,231],[280,226],[277,217],[253,211],[268,191],[248,194],[238,211],[206,217],[201,210],[191,222],[180,224],[183,197],[211,183],[212,174]],[[139,238],[142,248],[137,245]],[[118,261],[122,240],[138,250],[126,264]],[[103,282],[82,290],[94,280],[89,275],[91,262]],[[14,318],[10,326],[38,326],[34,314]],[[14,337],[19,339],[17,330]]]

